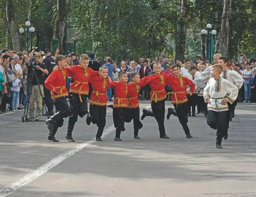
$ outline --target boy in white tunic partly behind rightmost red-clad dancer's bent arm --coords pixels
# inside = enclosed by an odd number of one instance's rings
[[[198,78],[196,74],[196,67],[191,66],[190,67],[190,72],[186,74],[184,77],[188,77],[191,81],[194,79]],[[192,107],[192,116],[196,117],[196,104],[197,104],[197,85],[195,86],[195,91],[193,92],[192,96],[188,98],[188,103],[189,103],[189,111],[188,111],[188,116],[191,116],[191,107]],[[190,91],[190,87],[187,86],[187,92]]]

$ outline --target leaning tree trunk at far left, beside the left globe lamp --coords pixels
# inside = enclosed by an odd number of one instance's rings
[[[12,36],[13,51],[20,51],[18,25],[15,20],[14,6],[12,0],[6,0],[6,18]]]

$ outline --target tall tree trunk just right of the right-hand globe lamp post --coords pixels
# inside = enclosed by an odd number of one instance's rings
[[[231,0],[224,0],[223,13],[221,17],[219,53],[221,53],[225,57],[228,56],[230,16],[231,16]]]

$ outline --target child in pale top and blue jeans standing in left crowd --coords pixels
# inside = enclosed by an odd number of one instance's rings
[[[13,112],[20,112],[20,110],[17,109],[19,104],[19,93],[20,93],[20,87],[21,82],[19,79],[20,73],[18,71],[13,72],[14,76],[16,77],[16,80],[12,82],[12,111]]]

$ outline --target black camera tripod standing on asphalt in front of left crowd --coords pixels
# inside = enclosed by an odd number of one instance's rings
[[[30,72],[30,74],[29,74],[29,77],[28,77],[28,96],[27,96],[27,100],[26,100],[26,106],[25,106],[25,110],[24,110],[24,114],[23,114],[23,116],[21,117],[21,120],[22,120],[22,122],[25,122],[25,121],[29,121],[28,120],[28,106],[29,106],[29,98],[30,98],[30,96],[31,96],[31,93],[32,93],[32,81],[33,81],[33,77],[36,77],[36,82],[37,82],[37,85],[38,85],[38,89],[39,89],[39,91],[40,91],[40,95],[41,95],[41,97],[42,97],[42,103],[43,103],[43,106],[44,106],[44,108],[46,109],[46,106],[45,106],[45,103],[44,103],[44,96],[43,96],[43,93],[42,93],[42,91],[41,91],[41,88],[40,88],[40,85],[39,85],[39,82],[38,82],[38,79],[37,79],[37,76],[36,76],[36,71],[35,71],[35,69],[31,69],[31,72]],[[32,95],[33,97],[35,96],[35,95]],[[31,104],[31,105],[33,105],[33,103]],[[27,110],[27,113],[26,113],[26,110]],[[25,115],[26,114],[26,115]],[[46,111],[46,114],[47,114],[47,111]],[[49,119],[50,117],[48,116],[48,114],[47,114],[47,118]],[[43,121],[43,120],[42,120]]]

